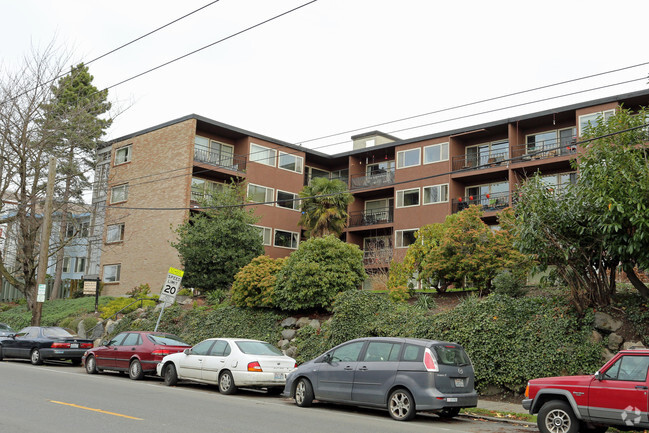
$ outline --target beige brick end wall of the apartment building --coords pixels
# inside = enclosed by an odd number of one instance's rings
[[[109,202],[112,186],[129,186],[128,200],[106,210],[107,226],[124,223],[124,241],[104,243],[102,275],[105,265],[121,264],[121,277],[119,283],[105,284],[103,294],[123,295],[144,283],[159,293],[169,267],[180,267],[170,242],[175,239],[173,228],[188,215],[183,208],[189,206],[195,130],[192,119],[113,144]],[[115,166],[115,151],[129,144],[131,161]],[[104,241],[105,236],[106,230]]]

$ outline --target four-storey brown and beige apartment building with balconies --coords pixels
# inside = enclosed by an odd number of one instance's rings
[[[293,199],[304,185],[315,177],[343,180],[355,198],[343,239],[364,251],[373,276],[367,285],[384,284],[390,261],[403,258],[423,225],[477,204],[495,226],[516,185],[537,171],[552,188],[575,182],[570,161],[579,155],[583,128],[621,104],[646,106],[649,91],[406,140],[363,133],[352,137],[351,151],[335,155],[198,115],[121,137],[102,148],[110,152],[102,169],[106,205],[97,208],[105,208],[96,243],[104,293],[124,294],[142,283],[156,291],[168,268],[180,266],[170,245],[174,227],[199,197],[232,179],[263,203],[255,212],[271,257],[289,255],[303,239]]]

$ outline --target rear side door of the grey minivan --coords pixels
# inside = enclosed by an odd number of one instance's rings
[[[352,387],[352,400],[366,404],[385,404],[399,366],[401,343],[369,341],[361,355]]]

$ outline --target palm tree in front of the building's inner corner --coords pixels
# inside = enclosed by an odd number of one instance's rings
[[[345,183],[317,177],[302,189],[300,198],[303,200],[299,224],[307,237],[340,236],[347,225],[347,206],[354,201]]]

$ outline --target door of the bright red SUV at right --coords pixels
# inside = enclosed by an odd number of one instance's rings
[[[593,378],[588,391],[592,421],[633,427],[649,426],[649,356],[623,355]]]

